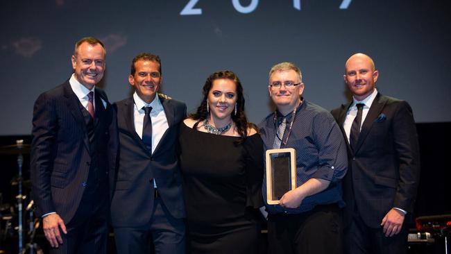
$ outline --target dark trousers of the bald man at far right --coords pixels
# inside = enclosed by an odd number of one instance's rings
[[[406,221],[398,235],[386,237],[382,227],[370,228],[366,226],[358,214],[355,214],[352,217],[350,226],[344,232],[345,253],[407,253],[408,234],[409,230],[407,229]]]

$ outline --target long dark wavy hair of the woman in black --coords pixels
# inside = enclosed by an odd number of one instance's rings
[[[241,81],[233,71],[224,70],[224,71],[216,71],[214,74],[211,74],[207,81],[205,81],[205,85],[203,85],[202,94],[203,99],[201,101],[201,105],[198,106],[195,113],[189,115],[189,118],[197,120],[198,122],[207,119],[209,113],[207,112],[207,97],[208,93],[212,89],[213,81],[216,79],[226,78],[230,81],[233,81],[237,86],[237,114],[235,115],[232,112],[232,121],[237,126],[238,134],[241,137],[247,137],[248,128],[255,128],[257,130],[257,126],[255,124],[249,123],[244,113],[244,94],[243,94],[243,86],[241,85]]]

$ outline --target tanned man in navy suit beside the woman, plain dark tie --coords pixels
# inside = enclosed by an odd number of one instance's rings
[[[119,168],[111,205],[117,252],[185,253],[185,203],[176,154],[185,103],[158,96],[158,56],[133,59],[132,97],[117,102]]]

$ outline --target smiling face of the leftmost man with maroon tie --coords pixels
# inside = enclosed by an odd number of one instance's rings
[[[103,78],[105,71],[105,49],[101,44],[83,42],[71,57],[75,78],[91,90]]]

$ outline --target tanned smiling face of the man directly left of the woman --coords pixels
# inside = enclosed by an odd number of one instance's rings
[[[135,74],[128,76],[128,82],[135,87],[139,98],[146,103],[151,103],[162,81],[160,65],[151,60],[137,60],[135,70]]]

